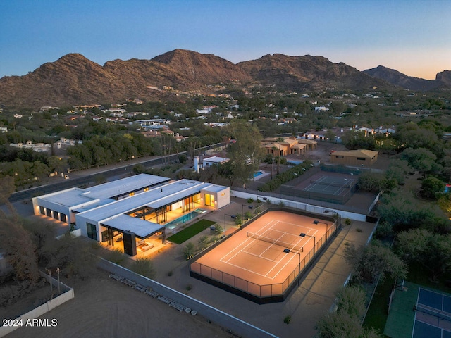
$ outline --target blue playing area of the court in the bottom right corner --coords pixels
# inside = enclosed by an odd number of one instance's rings
[[[412,338],[451,338],[451,297],[419,288]]]

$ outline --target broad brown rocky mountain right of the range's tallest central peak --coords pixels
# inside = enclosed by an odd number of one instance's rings
[[[237,63],[262,84],[276,84],[282,89],[302,88],[362,90],[393,87],[374,79],[345,63],[332,63],[322,56],[265,55],[258,60]]]

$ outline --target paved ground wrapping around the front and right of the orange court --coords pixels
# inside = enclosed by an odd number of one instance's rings
[[[206,215],[206,219],[216,220],[223,227],[224,214],[241,213],[242,204],[246,204],[246,201],[234,199],[223,210]],[[231,224],[228,215],[226,221]],[[357,221],[344,225],[314,268],[305,275],[300,286],[283,303],[258,305],[190,277],[187,261],[182,256],[183,244],[170,244],[163,254],[154,256],[152,261],[157,271],[156,280],[168,287],[204,301],[278,337],[313,337],[316,334],[315,324],[329,311],[335,293],[351,272],[350,266],[343,258],[345,243],[364,245],[374,226],[372,223]],[[197,235],[199,236],[202,234]],[[197,237],[194,237],[192,242],[196,242]],[[291,316],[289,325],[283,323],[287,315]],[[233,327],[230,329],[233,330]]]

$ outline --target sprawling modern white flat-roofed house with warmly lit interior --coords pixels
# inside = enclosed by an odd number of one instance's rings
[[[35,215],[61,220],[85,237],[123,245],[125,253],[151,236],[166,241],[166,226],[199,208],[216,210],[230,203],[230,188],[193,180],[140,174],[95,187],[71,188],[34,197]]]

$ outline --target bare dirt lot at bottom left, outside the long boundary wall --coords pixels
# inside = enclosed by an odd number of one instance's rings
[[[22,327],[6,337],[234,337],[202,316],[179,312],[111,280],[101,270],[73,287],[75,299],[40,317],[56,319],[55,327]]]

